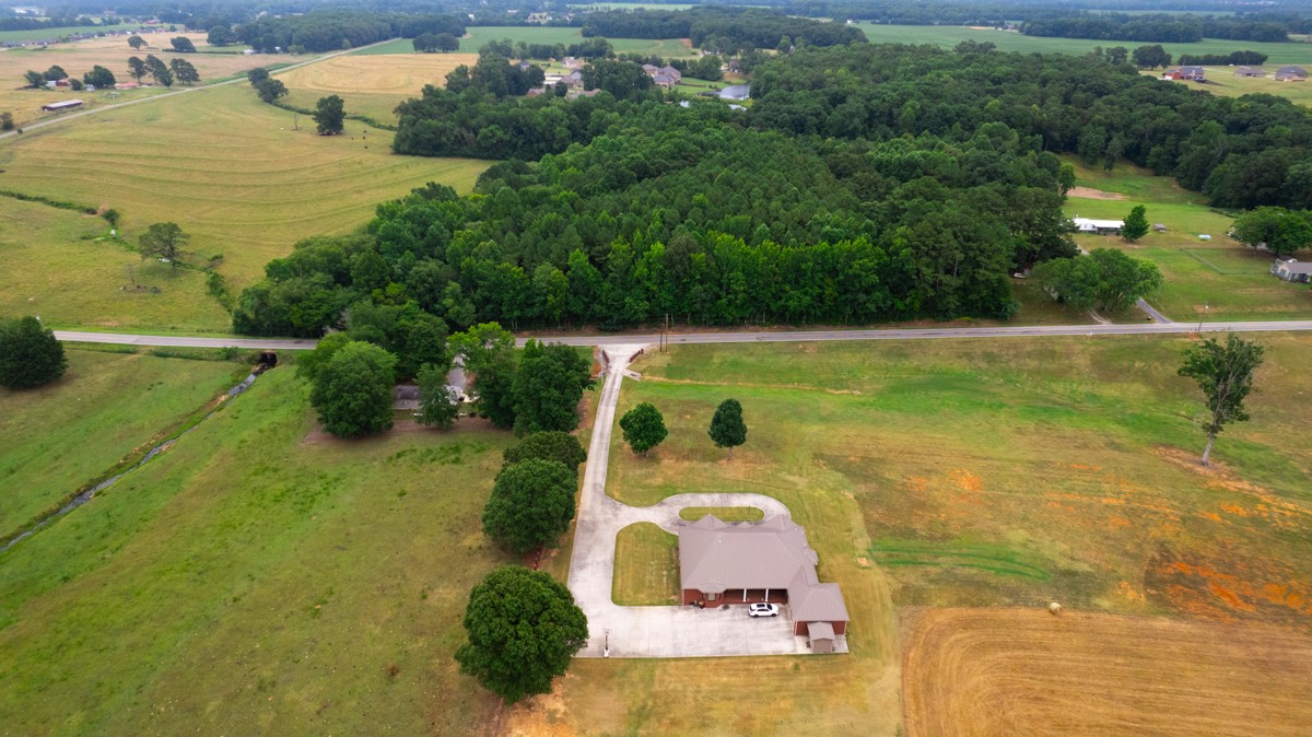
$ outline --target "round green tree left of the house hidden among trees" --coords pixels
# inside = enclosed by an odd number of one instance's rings
[[[377,345],[352,341],[337,349],[310,393],[324,428],[338,438],[390,429],[395,368],[396,357]]]

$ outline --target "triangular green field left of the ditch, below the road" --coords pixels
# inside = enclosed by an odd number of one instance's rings
[[[0,535],[140,450],[227,389],[247,367],[68,350],[54,384],[0,389]]]

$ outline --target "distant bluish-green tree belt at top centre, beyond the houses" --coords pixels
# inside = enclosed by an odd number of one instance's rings
[[[585,37],[690,38],[693,46],[733,52],[740,49],[840,46],[866,39],[861,29],[757,8],[693,8],[689,10],[617,10],[589,13]]]

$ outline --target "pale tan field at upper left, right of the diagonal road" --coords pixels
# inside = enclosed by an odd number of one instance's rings
[[[476,54],[348,54],[278,75],[290,93],[287,102],[314,109],[320,97],[337,94],[348,114],[395,123],[394,110],[419,97],[425,84],[443,87],[461,64],[472,67]]]

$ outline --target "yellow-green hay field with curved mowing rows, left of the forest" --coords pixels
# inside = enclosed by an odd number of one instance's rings
[[[308,236],[365,224],[387,199],[436,181],[472,189],[487,161],[394,156],[391,132],[314,122],[264,105],[248,85],[203,89],[24,134],[0,144],[0,188],[113,207],[129,239],[156,222],[192,235],[198,258],[222,254],[234,291]],[[12,265],[0,265],[0,281]],[[5,282],[8,283],[8,282]],[[70,324],[94,324],[80,315]],[[214,323],[185,325],[222,329]]]

